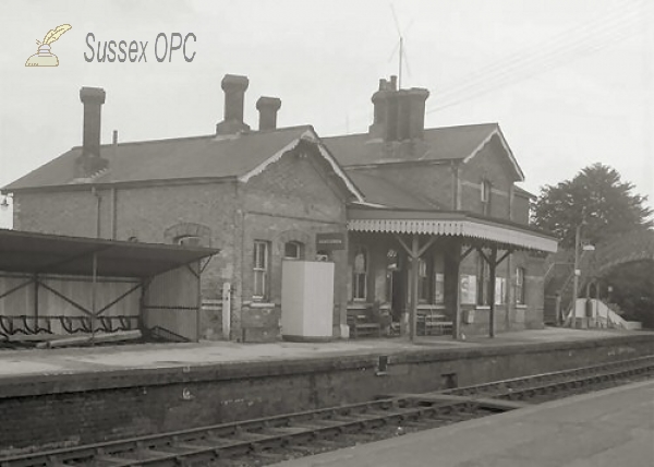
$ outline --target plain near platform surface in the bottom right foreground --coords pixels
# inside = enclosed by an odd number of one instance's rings
[[[654,466],[654,381],[405,434],[278,467]]]

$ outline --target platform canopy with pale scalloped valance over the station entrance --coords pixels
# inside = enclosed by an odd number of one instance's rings
[[[465,212],[351,208],[348,230],[459,236],[512,250],[557,250],[557,240],[541,230]]]

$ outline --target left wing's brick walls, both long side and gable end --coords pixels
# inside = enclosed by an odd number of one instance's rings
[[[58,235],[96,237],[98,199],[100,237],[172,243],[183,235],[198,236],[204,246],[220,249],[203,273],[204,298],[220,298],[222,283],[232,284],[232,338],[242,337],[245,324],[264,327],[261,338],[276,338],[281,301],[281,258],[287,241],[305,246],[305,258],[315,258],[315,234],[346,232],[347,193],[315,155],[288,153],[247,183],[195,183],[101,189],[73,188],[65,192],[19,193],[17,229]],[[114,220],[113,220],[114,219]],[[256,312],[252,301],[254,240],[271,242],[271,296],[275,304]],[[346,254],[336,252],[336,277],[347,271]],[[344,285],[335,287],[335,324],[344,320]],[[342,316],[341,316],[342,315]],[[219,313],[204,311],[201,336],[218,338]],[[256,336],[254,336],[256,337]]]

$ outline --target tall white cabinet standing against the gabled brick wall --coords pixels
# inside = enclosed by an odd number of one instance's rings
[[[281,334],[286,340],[327,340],[334,324],[334,263],[284,260]]]

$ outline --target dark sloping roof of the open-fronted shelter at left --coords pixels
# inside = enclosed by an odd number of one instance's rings
[[[152,277],[219,250],[0,229],[0,271],[29,274]]]

